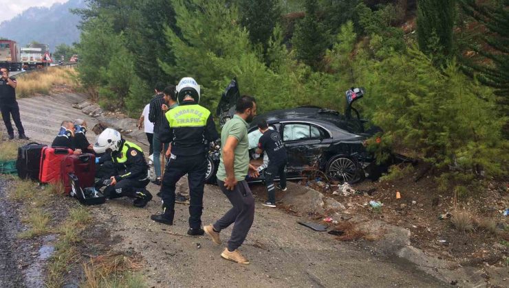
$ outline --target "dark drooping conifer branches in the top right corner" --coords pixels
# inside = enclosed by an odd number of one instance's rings
[[[507,106],[509,103],[509,1],[497,0],[495,5],[480,5],[474,0],[460,0],[462,10],[484,25],[482,43],[470,41],[469,48],[479,54],[480,58],[466,59],[465,70],[468,74],[477,75],[477,79],[488,86],[496,88],[497,95]],[[488,64],[486,64],[488,63]]]

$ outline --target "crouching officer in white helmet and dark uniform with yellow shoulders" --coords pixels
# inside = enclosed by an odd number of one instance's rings
[[[96,184],[96,189],[107,184],[104,195],[109,199],[118,197],[136,198],[133,206],[144,207],[152,199],[152,195],[145,187],[149,184],[148,165],[143,150],[136,144],[122,139],[120,132],[107,128],[94,144],[97,154],[105,154],[102,161],[111,160],[116,174],[110,176],[111,183]]]

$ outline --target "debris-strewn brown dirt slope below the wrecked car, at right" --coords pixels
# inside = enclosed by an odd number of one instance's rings
[[[506,267],[509,247],[501,243],[509,237],[508,232],[503,232],[504,229],[508,231],[509,217],[502,215],[502,211],[509,207],[507,183],[494,181],[486,185],[482,194],[455,200],[452,193],[437,191],[433,176],[415,182],[418,172],[393,182],[353,184],[351,187],[359,193],[347,196],[332,195],[334,187],[323,189],[316,183],[310,184],[344,204],[347,207],[345,213],[365,215],[407,228],[411,231],[413,246],[439,259],[456,261],[460,265]],[[397,191],[400,199],[396,199]],[[368,204],[371,200],[382,202],[382,208],[371,208]],[[500,234],[494,235],[478,227],[473,232],[459,232],[453,228],[450,219],[439,219],[441,214],[454,214],[462,209],[469,211],[474,219],[495,222]]]

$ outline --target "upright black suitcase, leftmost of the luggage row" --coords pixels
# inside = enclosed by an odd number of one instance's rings
[[[41,151],[43,147],[47,147],[47,145],[32,142],[18,148],[16,169],[18,170],[19,178],[39,181]]]

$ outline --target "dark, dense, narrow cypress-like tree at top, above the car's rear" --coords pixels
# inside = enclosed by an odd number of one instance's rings
[[[317,9],[316,0],[305,1],[306,14],[304,19],[297,24],[292,39],[297,59],[314,69],[318,69],[320,66],[331,39],[325,25],[318,21]]]

